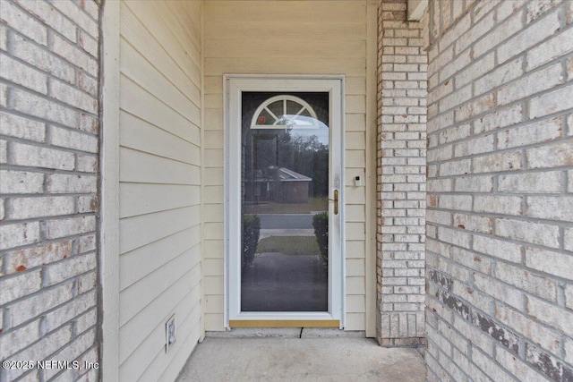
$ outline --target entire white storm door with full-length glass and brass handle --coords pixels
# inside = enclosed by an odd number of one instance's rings
[[[225,90],[227,327],[344,327],[344,78]]]

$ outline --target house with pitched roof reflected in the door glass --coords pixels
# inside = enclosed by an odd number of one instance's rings
[[[270,166],[257,171],[252,184],[252,201],[274,200],[283,203],[308,202],[308,189],[312,178],[285,167]]]

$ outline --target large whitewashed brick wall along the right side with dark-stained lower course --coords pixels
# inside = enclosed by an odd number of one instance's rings
[[[573,2],[432,1],[429,380],[573,380]]]

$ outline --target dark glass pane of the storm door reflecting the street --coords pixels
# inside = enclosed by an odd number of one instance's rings
[[[242,93],[243,312],[329,311],[329,93]]]

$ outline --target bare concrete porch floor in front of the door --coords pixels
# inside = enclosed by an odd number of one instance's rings
[[[421,382],[425,373],[417,350],[370,338],[207,337],[177,381]]]

